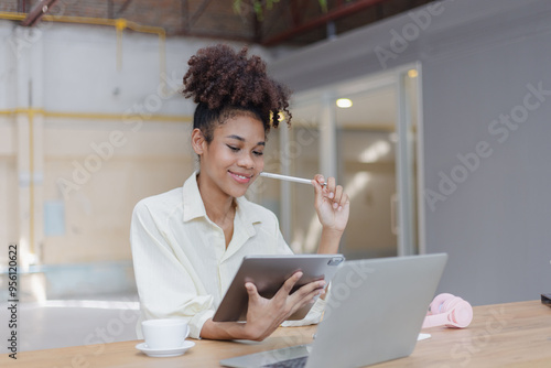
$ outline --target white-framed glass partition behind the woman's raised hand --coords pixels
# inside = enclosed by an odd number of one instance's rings
[[[293,127],[280,131],[281,173],[311,178],[334,169],[349,195],[350,219],[341,245],[348,259],[422,249],[418,75],[413,65],[301,93],[291,109]],[[337,107],[341,98],[347,100]],[[280,194],[287,241],[296,252],[315,252],[321,225],[313,188],[281,182]]]

